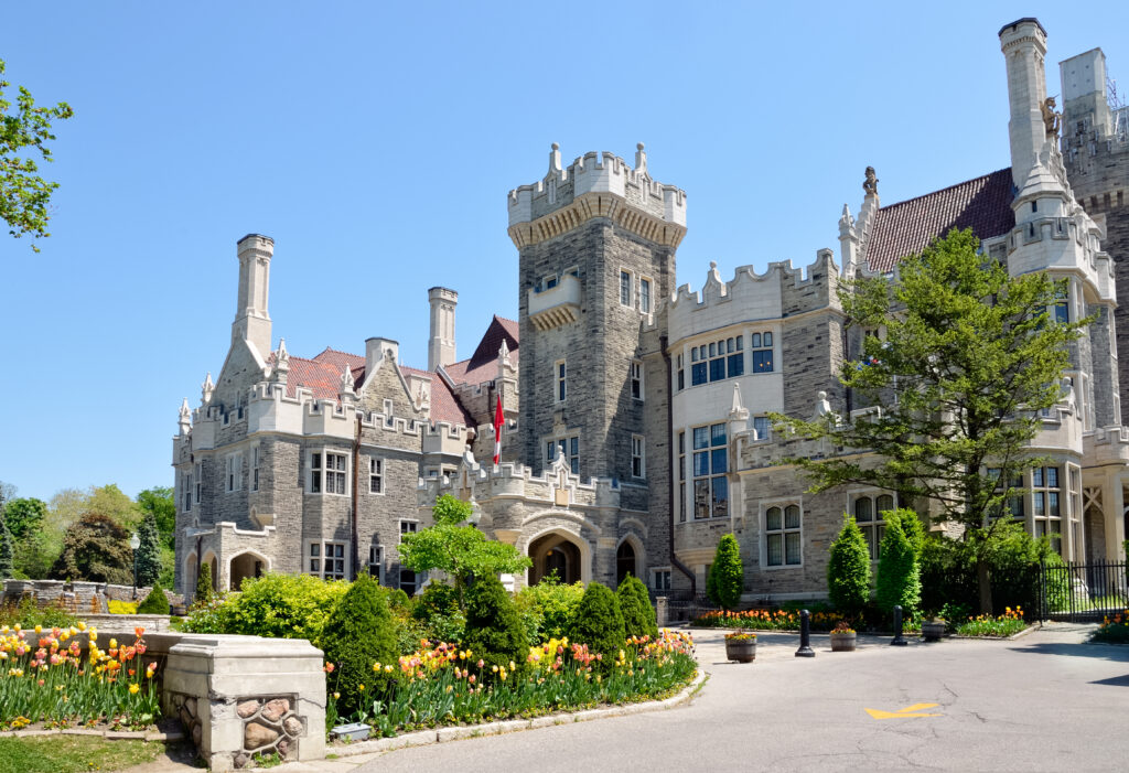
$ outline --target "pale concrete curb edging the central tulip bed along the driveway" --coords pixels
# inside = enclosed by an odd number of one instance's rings
[[[699,666],[698,675],[676,695],[672,695],[663,701],[647,701],[644,703],[628,703],[624,705],[609,706],[607,709],[589,709],[586,711],[566,712],[550,714],[548,717],[536,717],[534,719],[511,719],[498,722],[485,722],[483,724],[466,724],[438,728],[436,730],[421,730],[409,732],[393,738],[377,738],[362,740],[348,746],[327,746],[326,753],[335,754],[338,757],[352,757],[361,754],[373,754],[374,752],[392,752],[409,746],[428,746],[430,744],[446,744],[464,738],[479,738],[483,736],[500,736],[506,732],[518,732],[520,730],[535,730],[537,728],[549,728],[557,724],[571,724],[574,722],[588,722],[596,719],[607,719],[611,717],[625,717],[628,714],[641,714],[651,711],[666,711],[675,709],[683,703],[691,701],[702,683],[706,682],[706,671]]]

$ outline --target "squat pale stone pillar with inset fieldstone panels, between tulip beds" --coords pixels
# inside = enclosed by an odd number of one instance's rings
[[[161,703],[180,717],[212,771],[251,753],[325,756],[322,651],[300,639],[185,635],[168,651]]]

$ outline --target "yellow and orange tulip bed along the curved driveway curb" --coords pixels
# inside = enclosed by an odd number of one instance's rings
[[[371,702],[371,710],[338,717],[340,695],[331,692],[326,726],[358,721],[377,735],[394,736],[440,724],[537,717],[663,697],[697,674],[693,640],[671,631],[657,640],[632,636],[611,662],[590,653],[586,644],[552,639],[531,648],[525,664],[511,661],[508,668],[490,667],[473,651],[454,644],[422,643],[425,649],[399,664],[374,664],[374,671],[399,682],[391,695]],[[332,685],[332,666],[326,670]]]

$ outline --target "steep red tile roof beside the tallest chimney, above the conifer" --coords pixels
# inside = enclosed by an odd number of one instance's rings
[[[870,226],[867,263],[872,271],[892,271],[953,228],[971,228],[980,239],[1007,234],[1015,226],[1014,197],[1008,168],[883,207]]]

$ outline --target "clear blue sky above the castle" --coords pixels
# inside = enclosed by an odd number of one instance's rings
[[[0,480],[170,485],[247,232],[274,238],[275,345],[382,335],[426,367],[441,283],[469,357],[517,314],[505,196],[553,141],[647,143],[688,193],[680,283],[838,255],[867,165],[885,203],[1008,166],[997,30],[1023,16],[1052,94],[1095,46],[1129,93],[1124,2],[8,3],[8,80],[76,116],[43,252],[0,231]]]

